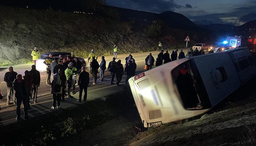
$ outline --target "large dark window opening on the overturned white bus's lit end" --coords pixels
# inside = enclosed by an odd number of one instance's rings
[[[193,59],[174,68],[171,74],[185,109],[202,110],[210,106],[206,89]]]

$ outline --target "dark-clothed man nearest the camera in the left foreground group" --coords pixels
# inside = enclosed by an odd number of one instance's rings
[[[13,82],[13,89],[15,91],[15,97],[17,99],[16,105],[16,120],[20,120],[20,105],[23,102],[24,105],[24,118],[29,119],[27,116],[27,99],[29,96],[29,91],[27,91],[27,85],[25,81],[22,79],[22,75],[18,74],[16,79]]]

